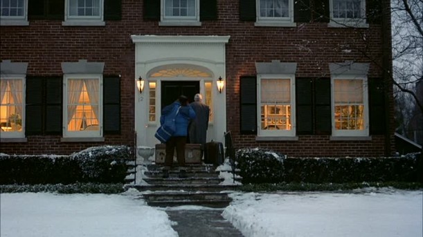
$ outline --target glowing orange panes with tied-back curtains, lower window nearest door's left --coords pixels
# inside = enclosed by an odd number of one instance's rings
[[[98,79],[68,80],[68,131],[98,131]]]

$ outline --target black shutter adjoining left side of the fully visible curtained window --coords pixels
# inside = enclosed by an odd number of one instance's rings
[[[46,124],[45,133],[62,135],[63,86],[62,77],[46,78]]]

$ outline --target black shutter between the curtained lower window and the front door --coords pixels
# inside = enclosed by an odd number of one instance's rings
[[[120,77],[103,78],[103,131],[120,133]]]

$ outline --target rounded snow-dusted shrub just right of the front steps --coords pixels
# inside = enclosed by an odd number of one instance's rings
[[[269,149],[245,148],[235,153],[243,183],[282,182],[285,155]]]

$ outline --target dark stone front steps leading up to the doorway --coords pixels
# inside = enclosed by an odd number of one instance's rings
[[[143,178],[147,184],[126,184],[125,189],[141,191],[141,198],[154,207],[199,205],[222,208],[229,205],[228,193],[237,185],[220,184],[224,179],[219,178],[213,165],[190,164],[186,167],[186,174],[187,178],[178,178],[179,169],[172,169],[169,178],[162,178],[160,166],[148,165]]]

